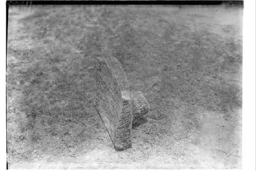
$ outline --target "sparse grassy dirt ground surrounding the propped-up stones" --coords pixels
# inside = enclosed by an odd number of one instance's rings
[[[9,168],[241,168],[239,6],[11,7]],[[114,56],[151,106],[116,151],[93,107]]]

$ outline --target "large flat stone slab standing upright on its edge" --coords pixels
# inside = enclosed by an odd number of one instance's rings
[[[132,146],[130,85],[121,64],[112,58],[97,58],[95,107],[116,149]]]

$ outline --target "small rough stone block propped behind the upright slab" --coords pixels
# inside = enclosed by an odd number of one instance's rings
[[[144,116],[150,110],[150,104],[147,102],[143,93],[140,91],[131,91],[133,125],[138,119]]]

